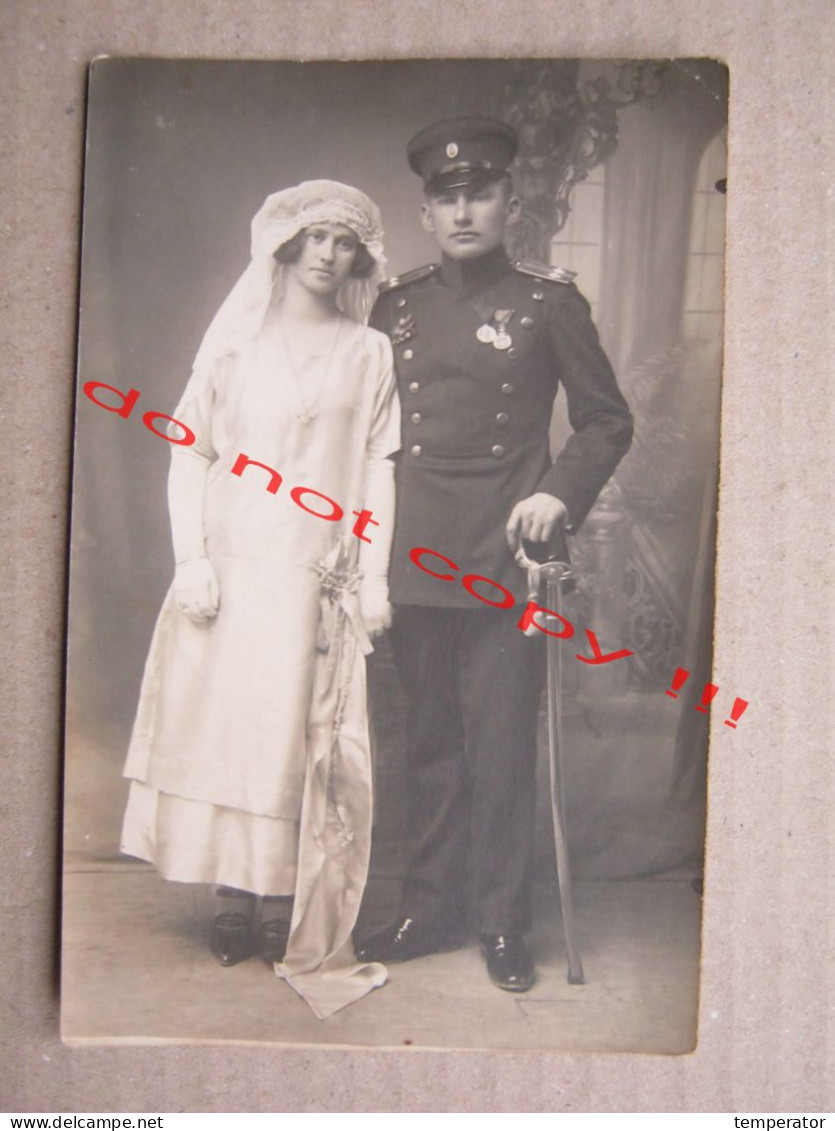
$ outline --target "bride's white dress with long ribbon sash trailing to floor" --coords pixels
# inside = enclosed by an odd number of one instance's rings
[[[173,458],[210,463],[204,529],[219,610],[192,621],[173,587],[165,597],[121,847],[170,880],[293,895],[279,973],[328,1016],[385,979],[377,964],[352,966],[371,767],[351,530],[370,463],[399,446],[399,412],[376,330],[343,321],[307,423],[295,364],[265,328],[196,371],[174,411],[196,442]],[[253,463],[241,468],[241,456]]]

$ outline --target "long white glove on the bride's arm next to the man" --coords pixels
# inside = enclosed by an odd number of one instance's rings
[[[365,481],[365,509],[373,512],[378,526],[365,529],[370,542],[360,544],[360,610],[365,631],[373,639],[391,627],[388,602],[388,560],[391,554],[395,517],[394,464],[390,459],[371,459]]]

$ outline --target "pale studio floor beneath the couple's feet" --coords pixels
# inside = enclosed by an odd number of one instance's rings
[[[62,1031],[71,1043],[267,1042],[375,1047],[687,1053],[696,1043],[699,898],[689,878],[576,887],[586,984],[566,979],[556,891],[537,886],[537,979],[496,990],[475,940],[389,967],[388,983],[326,1021],[260,959],[223,968],[203,889],[141,865],[64,877]],[[367,927],[396,907],[369,890]]]

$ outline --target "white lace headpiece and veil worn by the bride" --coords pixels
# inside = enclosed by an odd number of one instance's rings
[[[283,267],[275,252],[305,227],[344,224],[375,261],[367,278],[351,276],[339,287],[337,305],[348,318],[364,322],[377,286],[386,276],[382,222],[377,205],[338,181],[303,181],[268,196],[252,219],[251,260],[221,305],[204,335],[195,369],[238,348],[261,328],[276,288],[281,293]]]

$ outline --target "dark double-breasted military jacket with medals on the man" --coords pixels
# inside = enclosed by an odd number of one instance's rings
[[[419,268],[384,284],[371,325],[388,334],[403,406],[390,593],[395,604],[472,607],[474,573],[526,597],[505,528],[514,506],[543,491],[575,533],[631,440],[631,417],[569,273],[511,264],[503,249]],[[490,326],[496,338],[480,340]],[[490,334],[482,331],[482,337]],[[508,344],[508,338],[510,343]],[[559,383],[574,434],[552,461]],[[427,547],[424,562],[410,559]],[[499,604],[499,590],[480,586]]]

